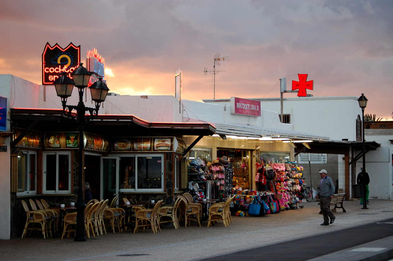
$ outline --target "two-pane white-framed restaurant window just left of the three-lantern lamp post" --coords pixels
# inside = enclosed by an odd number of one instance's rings
[[[43,193],[71,193],[71,152],[44,152]]]

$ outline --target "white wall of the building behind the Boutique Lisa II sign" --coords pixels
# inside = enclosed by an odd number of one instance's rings
[[[295,131],[329,137],[331,140],[356,141],[356,117],[362,115],[357,99],[357,97],[284,98],[283,114],[291,115],[291,123]],[[279,98],[253,100],[260,100],[264,110],[280,113]],[[204,102],[230,104],[228,99],[204,100]]]

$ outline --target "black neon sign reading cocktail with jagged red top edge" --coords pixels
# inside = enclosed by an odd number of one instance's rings
[[[59,44],[50,46],[47,42],[42,52],[42,84],[53,84],[62,72],[72,78],[71,73],[81,62],[81,46],[70,43],[62,48]]]

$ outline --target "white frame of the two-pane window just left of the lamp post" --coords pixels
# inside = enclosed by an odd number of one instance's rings
[[[46,190],[46,155],[56,155],[56,190]],[[68,155],[68,190],[59,190],[59,155]],[[44,151],[42,168],[42,193],[43,194],[70,194],[71,193],[71,151]]]

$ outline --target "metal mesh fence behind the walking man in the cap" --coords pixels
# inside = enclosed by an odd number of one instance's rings
[[[334,185],[336,186],[336,191],[342,189],[345,192],[345,163],[344,162],[327,162],[327,163],[301,163],[299,166],[303,166],[303,177],[305,177],[305,183],[307,186],[312,188],[312,190],[318,191],[319,183],[321,180],[320,170],[326,170],[327,175],[331,177]],[[341,190],[340,190],[341,191]]]

